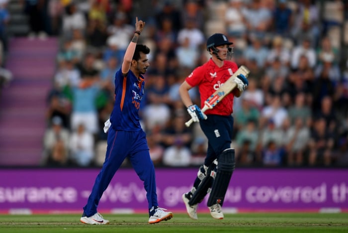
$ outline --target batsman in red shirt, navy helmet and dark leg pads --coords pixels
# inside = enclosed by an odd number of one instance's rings
[[[238,72],[237,64],[231,61],[232,44],[224,34],[211,35],[206,44],[211,58],[195,68],[179,88],[181,100],[187,107],[188,114],[193,122],[199,122],[208,139],[204,164],[198,170],[192,189],[182,195],[187,214],[193,220],[198,219],[197,206],[209,192],[207,206],[211,216],[214,219],[224,218],[222,206],[235,169],[235,150],[231,148],[233,99],[240,97],[248,87],[249,82],[246,76],[242,73],[238,74],[234,78],[230,92],[216,106],[210,106],[204,113],[201,111],[212,93]],[[198,87],[200,106],[193,104],[188,94],[193,87]]]

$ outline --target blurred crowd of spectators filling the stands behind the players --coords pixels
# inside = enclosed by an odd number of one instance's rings
[[[6,54],[6,0],[0,39]],[[47,94],[43,166],[101,166],[113,78],[134,35],[151,49],[140,107],[155,166],[203,163],[207,141],[178,87],[220,32],[251,70],[234,104],[237,166],[348,166],[348,9],[341,0],[22,0],[28,39],[60,38]],[[8,13],[8,12],[7,12]],[[2,68],[4,71],[5,68]],[[1,73],[1,70],[0,70]],[[10,74],[9,74],[10,76]],[[6,81],[7,80],[7,81]],[[1,75],[1,83],[8,82]],[[191,98],[199,104],[197,90]],[[123,166],[130,166],[128,161]]]

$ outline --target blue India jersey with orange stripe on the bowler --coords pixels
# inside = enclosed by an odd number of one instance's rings
[[[121,69],[115,74],[115,104],[110,116],[111,127],[115,130],[142,130],[139,122],[139,108],[144,96],[144,77],[141,81],[129,71],[124,77]]]

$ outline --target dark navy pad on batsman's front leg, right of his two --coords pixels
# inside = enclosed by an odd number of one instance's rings
[[[218,157],[216,177],[211,188],[207,206],[223,205],[224,198],[235,169],[235,150],[228,148]]]

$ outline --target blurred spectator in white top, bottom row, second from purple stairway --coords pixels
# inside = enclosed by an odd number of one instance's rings
[[[76,130],[71,134],[69,145],[71,158],[80,167],[88,167],[94,159],[93,134],[86,130],[83,123],[79,123]]]

